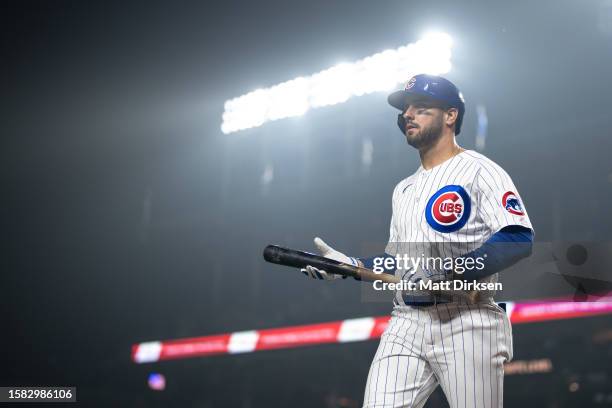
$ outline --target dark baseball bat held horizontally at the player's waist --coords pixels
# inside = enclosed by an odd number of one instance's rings
[[[307,265],[322,269],[327,273],[350,276],[355,280],[386,283],[399,283],[400,278],[386,273],[376,273],[362,266],[349,265],[333,259],[325,258],[310,252],[298,251],[296,249],[283,248],[277,245],[268,245],[263,252],[264,259],[277,265],[291,266],[303,269]]]

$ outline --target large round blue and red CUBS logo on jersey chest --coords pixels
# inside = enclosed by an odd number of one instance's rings
[[[442,187],[429,198],[425,207],[425,219],[438,232],[454,232],[461,229],[470,218],[470,196],[458,185]]]

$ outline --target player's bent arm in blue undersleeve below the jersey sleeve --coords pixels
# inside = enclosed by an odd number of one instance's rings
[[[531,255],[533,232],[524,227],[506,227],[495,233],[480,248],[462,258],[482,259],[484,268],[455,272],[455,279],[474,281],[501,272]]]

